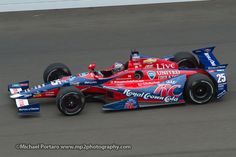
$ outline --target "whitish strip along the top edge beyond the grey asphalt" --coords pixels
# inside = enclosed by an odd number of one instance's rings
[[[205,0],[0,0],[0,12],[89,8]]]

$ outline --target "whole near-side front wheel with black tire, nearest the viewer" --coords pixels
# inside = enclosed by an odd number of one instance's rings
[[[74,116],[83,110],[85,97],[76,87],[63,87],[57,94],[56,103],[61,113],[67,116]]]

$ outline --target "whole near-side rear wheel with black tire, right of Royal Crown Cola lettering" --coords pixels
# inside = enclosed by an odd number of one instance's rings
[[[190,76],[185,85],[186,100],[193,104],[206,104],[215,97],[215,93],[215,84],[203,74]]]

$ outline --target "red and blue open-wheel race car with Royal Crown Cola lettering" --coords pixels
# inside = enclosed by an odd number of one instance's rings
[[[29,81],[23,81],[8,85],[8,90],[21,114],[40,111],[39,103],[29,103],[32,98],[56,98],[59,111],[68,116],[79,114],[91,99],[102,100],[103,110],[206,104],[227,92],[227,64],[220,64],[213,50],[161,58],[131,51],[126,63],[115,62],[105,70],[89,64],[88,72],[76,75],[66,65],[53,63],[43,73],[43,84],[29,88]]]

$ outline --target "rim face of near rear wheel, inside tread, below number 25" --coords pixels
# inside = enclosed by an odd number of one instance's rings
[[[213,87],[209,82],[201,81],[192,86],[190,97],[196,103],[206,103],[213,96]]]

